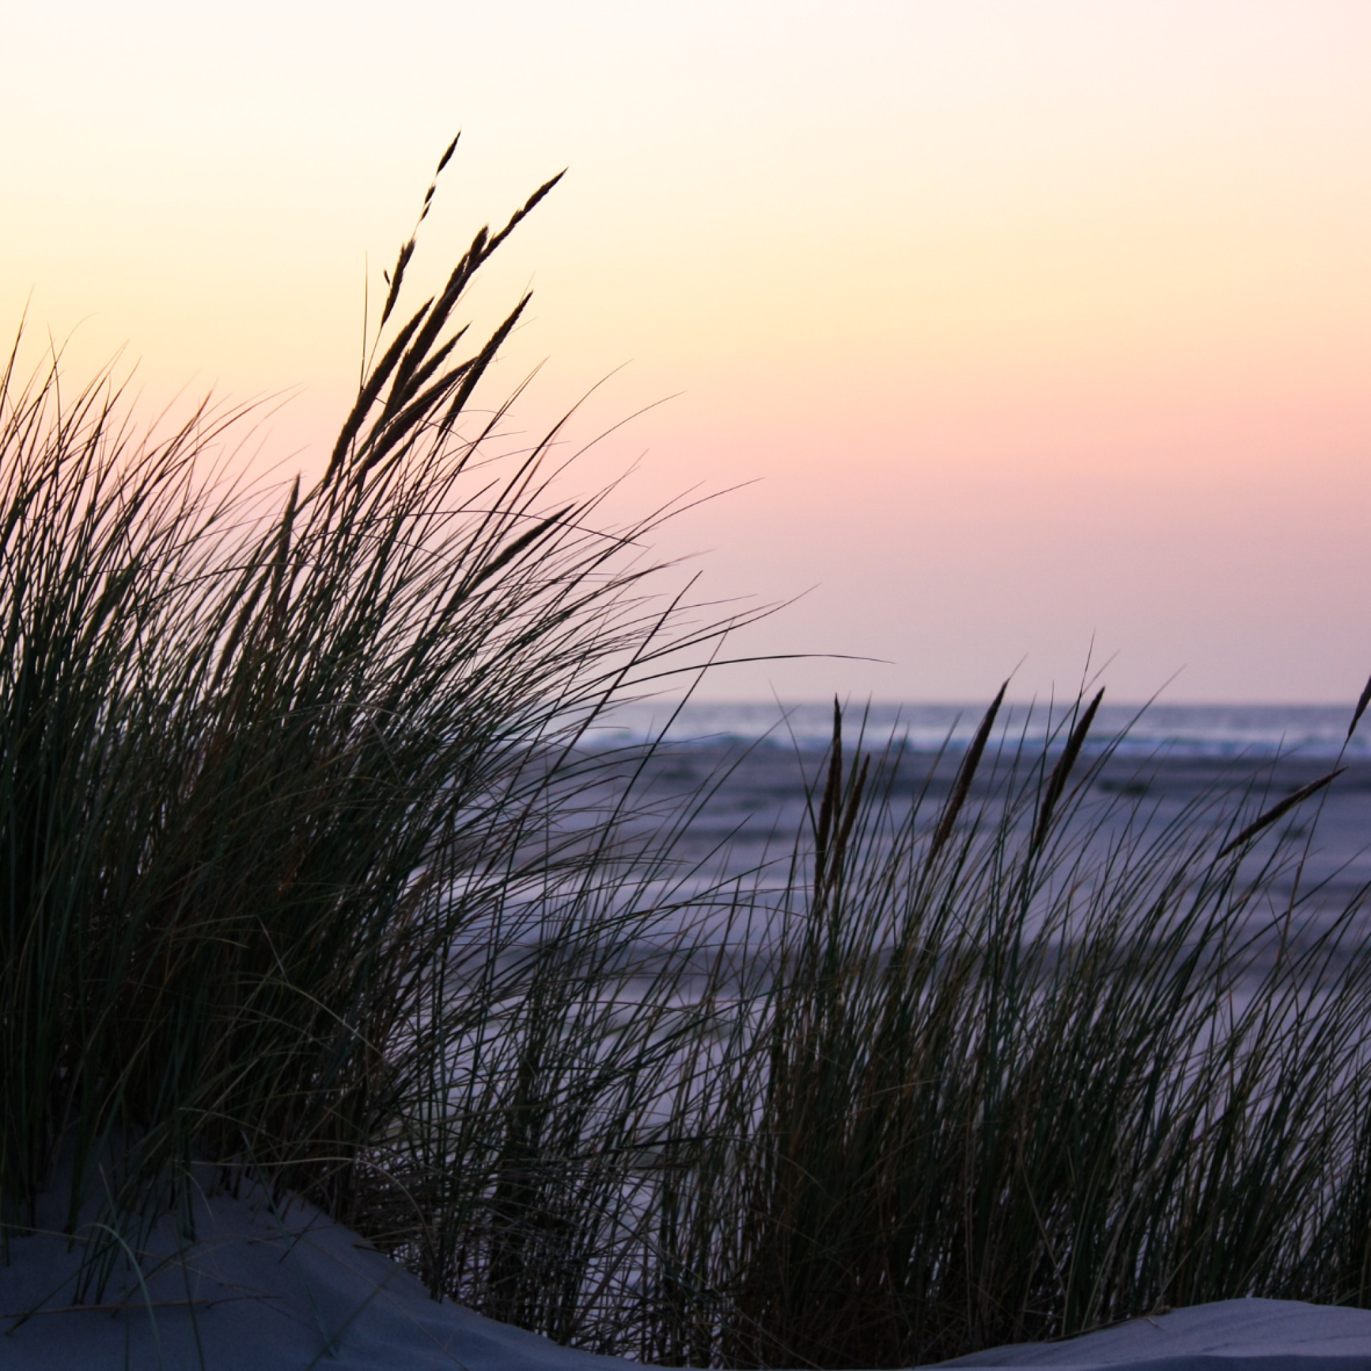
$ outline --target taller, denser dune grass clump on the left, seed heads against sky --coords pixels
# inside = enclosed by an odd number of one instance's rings
[[[472,409],[526,298],[465,352],[454,310],[553,184],[410,314],[403,247],[313,487],[225,483],[208,410],[140,439],[107,381],[73,398],[11,356],[5,1234],[53,1176],[71,1231],[101,1197],[101,1231],[136,1230],[196,1158],[347,1216],[366,1149],[444,1106],[458,1027],[522,993],[520,949],[579,946],[574,909],[525,895],[617,860],[610,818],[563,821],[594,769],[572,744],[718,629],[642,590],[651,520],[554,498],[555,435],[502,458],[503,411]]]

